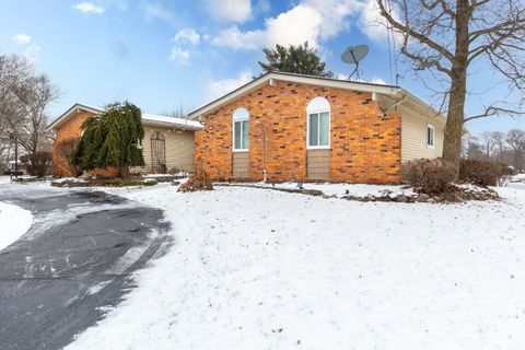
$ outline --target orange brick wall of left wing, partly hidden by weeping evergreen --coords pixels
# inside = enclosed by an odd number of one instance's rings
[[[55,130],[55,141],[52,141],[52,176],[55,177],[70,177],[74,174],[70,171],[68,166],[68,161],[58,151],[60,142],[68,139],[79,139],[81,135],[80,127],[82,124],[91,117],[93,114],[89,112],[79,112],[62,124],[58,129]],[[91,175],[100,176],[117,176],[120,170],[118,167],[110,168],[96,168],[90,171]]]

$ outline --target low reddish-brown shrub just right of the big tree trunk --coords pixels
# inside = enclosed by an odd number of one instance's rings
[[[462,159],[459,163],[459,180],[478,186],[501,186],[514,175],[506,164],[478,159]]]

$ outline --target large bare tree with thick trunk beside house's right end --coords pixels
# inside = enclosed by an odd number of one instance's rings
[[[465,121],[523,114],[525,93],[525,2],[523,0],[375,0],[401,54],[416,71],[443,79],[447,120],[443,158],[459,164]],[[505,83],[515,101],[490,101],[465,116],[469,69],[483,67]],[[491,86],[487,86],[490,89]]]

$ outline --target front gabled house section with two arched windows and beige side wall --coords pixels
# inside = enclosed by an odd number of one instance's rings
[[[438,158],[445,118],[399,86],[267,73],[189,114],[213,179],[397,184]]]

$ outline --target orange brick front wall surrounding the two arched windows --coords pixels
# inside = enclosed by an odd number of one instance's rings
[[[330,180],[399,183],[400,116],[384,117],[371,93],[278,82],[265,85],[206,117],[196,132],[196,160],[212,178],[232,177],[232,115],[249,112],[249,171],[262,178],[262,130],[267,174],[272,180],[306,179],[306,106],[323,96],[330,103]]]

